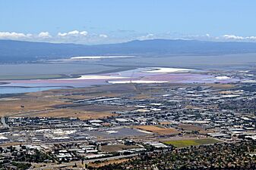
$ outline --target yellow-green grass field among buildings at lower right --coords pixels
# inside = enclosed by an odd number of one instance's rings
[[[194,139],[194,140],[179,140],[179,141],[165,141],[165,144],[173,145],[174,147],[190,147],[201,144],[216,144],[221,141],[217,141],[216,139],[207,138],[207,139]]]

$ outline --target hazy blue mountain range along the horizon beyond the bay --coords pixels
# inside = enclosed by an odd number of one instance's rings
[[[93,55],[168,56],[172,54],[256,53],[253,42],[152,39],[110,45],[75,45],[0,40],[0,62],[25,62]]]

